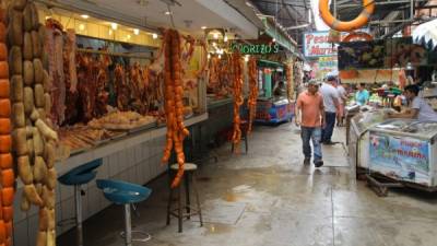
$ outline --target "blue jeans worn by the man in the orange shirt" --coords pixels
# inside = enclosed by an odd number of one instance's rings
[[[305,159],[311,157],[311,145],[309,140],[312,140],[314,162],[321,160],[321,129],[320,127],[300,127],[300,137],[304,147]]]

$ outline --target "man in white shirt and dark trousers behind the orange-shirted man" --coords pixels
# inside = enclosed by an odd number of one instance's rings
[[[335,127],[335,117],[339,109],[339,93],[334,87],[336,77],[328,75],[326,82],[320,87],[320,93],[324,104],[324,120],[326,125],[321,132],[321,141],[323,144],[334,144],[331,140],[332,132]]]

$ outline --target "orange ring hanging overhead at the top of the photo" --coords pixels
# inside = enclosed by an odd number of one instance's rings
[[[336,20],[329,10],[329,0],[319,0],[319,11],[320,16],[323,19],[324,23],[329,25],[331,28],[336,31],[353,31],[362,27],[367,24],[370,15],[375,11],[375,0],[363,0],[364,10],[362,13],[350,22],[342,22]]]

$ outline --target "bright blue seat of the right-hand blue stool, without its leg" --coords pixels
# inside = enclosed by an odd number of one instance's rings
[[[127,181],[98,179],[96,183],[106,199],[116,204],[137,203],[147,199],[152,192],[146,187]]]

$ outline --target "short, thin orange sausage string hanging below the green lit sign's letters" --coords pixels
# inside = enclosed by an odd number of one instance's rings
[[[249,108],[249,127],[247,132],[252,131],[252,124],[257,114],[257,99],[258,99],[258,80],[257,80],[257,59],[251,57],[248,63],[249,70],[249,98],[247,101]]]

